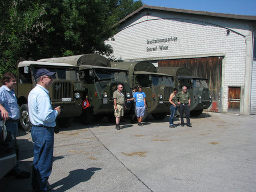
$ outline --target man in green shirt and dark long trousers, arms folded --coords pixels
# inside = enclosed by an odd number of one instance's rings
[[[183,114],[185,111],[186,114],[186,119],[187,119],[187,126],[192,127],[190,125],[190,118],[189,118],[189,106],[190,106],[190,95],[187,92],[187,87],[183,86],[182,91],[177,94],[178,98],[178,104],[180,108],[180,121],[181,121],[181,126],[184,126],[184,120],[183,120]]]

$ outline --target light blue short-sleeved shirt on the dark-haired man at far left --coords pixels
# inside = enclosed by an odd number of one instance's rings
[[[9,117],[17,120],[20,117],[17,98],[14,90],[10,90],[6,85],[0,87],[0,103],[9,113]]]

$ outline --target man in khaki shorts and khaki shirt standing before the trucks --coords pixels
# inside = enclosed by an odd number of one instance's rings
[[[117,90],[113,93],[114,98],[114,110],[115,110],[115,117],[116,117],[116,129],[120,130],[119,122],[121,116],[124,116],[124,110],[126,110],[125,101],[124,101],[124,94],[123,94],[123,85],[118,84]]]

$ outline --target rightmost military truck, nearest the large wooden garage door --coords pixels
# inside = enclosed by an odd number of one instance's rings
[[[199,116],[203,109],[211,106],[212,97],[208,86],[208,79],[195,77],[192,71],[186,67],[158,67],[159,73],[174,75],[174,85],[178,91],[182,86],[187,87],[190,94],[190,115]]]

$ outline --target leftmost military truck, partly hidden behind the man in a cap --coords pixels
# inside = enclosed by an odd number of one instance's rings
[[[39,68],[46,68],[56,74],[49,88],[52,107],[62,107],[58,115],[61,127],[68,127],[74,117],[82,114],[82,82],[79,81],[78,67],[67,63],[21,61],[18,64],[17,98],[20,106],[20,124],[27,132],[31,129],[28,115],[28,94],[36,86],[35,74]]]

